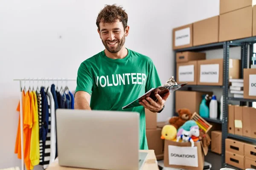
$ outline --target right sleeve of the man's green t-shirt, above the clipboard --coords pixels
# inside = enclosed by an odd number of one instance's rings
[[[159,75],[157,73],[157,69],[154,63],[150,60],[149,62],[149,69],[148,69],[148,77],[146,80],[145,91],[149,91],[151,88],[157,88],[161,85],[161,81]]]

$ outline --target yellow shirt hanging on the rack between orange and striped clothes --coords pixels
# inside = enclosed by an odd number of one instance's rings
[[[35,91],[31,92],[31,113],[32,113],[32,132],[30,140],[30,169],[39,164],[40,161],[40,149],[39,149],[39,120],[38,120],[38,103]]]

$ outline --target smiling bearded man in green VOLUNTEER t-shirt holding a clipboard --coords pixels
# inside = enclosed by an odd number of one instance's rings
[[[161,85],[152,60],[125,48],[127,21],[122,7],[108,5],[100,11],[96,25],[105,50],[79,66],[75,109],[122,111],[123,106]],[[163,99],[156,94],[158,102],[148,99],[151,104],[144,100],[142,106],[124,110],[140,113],[140,149],[148,149],[144,108],[159,113],[169,94]]]

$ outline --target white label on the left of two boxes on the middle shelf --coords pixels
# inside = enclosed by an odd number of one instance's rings
[[[182,65],[179,67],[179,82],[194,82],[195,81],[195,66]]]

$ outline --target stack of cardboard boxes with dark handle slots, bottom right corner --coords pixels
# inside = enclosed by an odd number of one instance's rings
[[[241,169],[256,169],[256,145],[226,139],[225,162]]]

